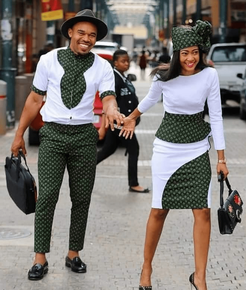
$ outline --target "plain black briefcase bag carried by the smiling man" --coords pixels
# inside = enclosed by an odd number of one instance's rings
[[[21,164],[21,157],[25,160],[26,168]],[[8,193],[17,207],[25,214],[35,212],[37,187],[22,151],[19,151],[18,157],[13,154],[6,157],[5,174]]]

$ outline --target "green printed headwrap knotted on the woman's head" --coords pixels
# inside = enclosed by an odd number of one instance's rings
[[[185,47],[198,45],[204,52],[210,49],[209,35],[212,33],[212,26],[208,21],[196,21],[191,29],[185,27],[172,28],[173,51]]]

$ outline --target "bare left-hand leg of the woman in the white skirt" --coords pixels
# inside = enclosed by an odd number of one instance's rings
[[[164,221],[169,209],[152,208],[149,214],[144,244],[144,261],[140,277],[140,286],[151,286],[152,260],[160,239]]]

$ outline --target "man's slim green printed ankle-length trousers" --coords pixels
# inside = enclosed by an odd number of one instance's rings
[[[69,175],[71,223],[69,250],[84,246],[95,180],[98,132],[93,124],[46,122],[39,131],[39,196],[35,212],[34,252],[50,250],[52,222],[65,168]]]

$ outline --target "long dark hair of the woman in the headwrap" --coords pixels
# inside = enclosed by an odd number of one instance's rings
[[[206,58],[205,53],[203,53],[203,51],[199,48],[199,62],[196,65],[196,69],[203,70],[204,68],[209,66],[205,62],[205,58]],[[176,78],[180,74],[181,74],[180,50],[174,51],[170,64],[160,64],[150,73],[152,77],[157,75],[158,80],[161,80],[163,82]]]

